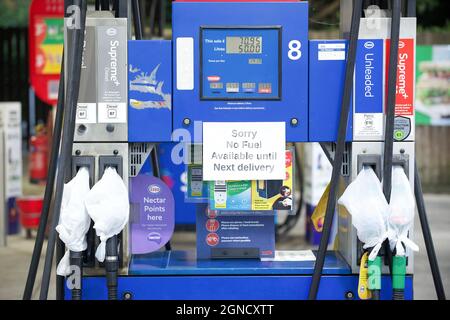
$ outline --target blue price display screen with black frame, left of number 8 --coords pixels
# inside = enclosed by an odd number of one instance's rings
[[[202,27],[202,100],[279,100],[280,27]]]

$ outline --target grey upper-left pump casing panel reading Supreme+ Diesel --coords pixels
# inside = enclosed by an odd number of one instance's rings
[[[64,34],[68,46],[69,34],[70,29]],[[127,42],[126,18],[115,18],[110,12],[88,13],[74,141],[128,140]],[[67,65],[67,55],[64,59]]]

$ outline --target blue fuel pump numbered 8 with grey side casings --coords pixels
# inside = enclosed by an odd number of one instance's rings
[[[121,2],[117,1],[116,9],[122,8]],[[395,67],[392,62],[388,73],[386,57],[398,55],[389,45],[398,42],[403,46],[399,50],[412,50],[408,51],[411,60],[405,63],[414,62],[413,47],[408,46],[415,43],[416,21],[414,17],[396,20],[401,31],[399,39],[394,39],[395,33],[386,31],[390,18],[362,16],[362,1],[356,1],[355,7],[349,3],[353,1],[342,0],[352,13],[352,29],[341,30],[349,33],[348,39],[309,40],[306,1],[175,1],[171,40],[128,40],[127,49],[117,51],[118,61],[126,61],[126,71],[120,67],[117,71],[122,83],[117,89],[120,94],[115,95],[120,101],[108,100],[111,96],[105,92],[112,89],[97,92],[93,98],[86,93],[89,90],[80,91],[78,101],[84,105],[78,109],[93,108],[99,115],[95,121],[72,119],[78,128],[74,150],[94,159],[93,176],[98,175],[97,161],[105,159],[116,167],[120,164],[127,186],[139,175],[160,175],[173,189],[176,222],[196,224],[197,246],[196,250],[178,250],[170,243],[154,252],[131,254],[133,230],[125,228],[107,244],[107,255],[114,261],[84,266],[106,268],[108,286],[104,277],[83,273],[79,298],[106,299],[108,287],[109,298],[118,299],[342,300],[357,296],[363,244],[351,216],[336,208],[341,192],[338,184],[351,183],[364,166],[384,176],[383,170],[390,165],[383,157],[409,170],[411,187],[417,183],[413,109],[395,103],[393,76],[388,78],[389,95],[384,83]],[[138,15],[134,17],[136,38],[141,38],[137,1],[133,6]],[[87,16],[86,35],[88,40],[94,39],[91,34],[97,35],[94,47],[98,52],[92,55],[98,57],[107,44],[101,32],[114,41],[120,37],[114,31],[116,24],[125,25],[123,16],[107,18],[100,13]],[[375,19],[380,27],[368,28],[368,19]],[[106,70],[100,60],[87,60],[96,61],[94,79]],[[413,69],[406,73],[405,77],[414,79]],[[82,74],[81,79],[85,81],[82,87],[89,88],[89,77]],[[414,87],[405,90],[413,92]],[[92,99],[86,100],[87,96]],[[384,96],[389,97],[392,109],[388,114]],[[106,110],[105,118],[100,118],[102,110]],[[392,130],[383,131],[386,119],[391,129],[394,126],[401,133],[395,141],[390,139]],[[243,123],[243,129],[245,123],[281,123],[284,144],[321,143],[334,159],[334,168],[324,237],[315,259],[281,259],[275,247],[275,216],[283,206],[290,208],[284,209],[287,214],[296,209],[293,187],[287,183],[295,179],[295,172],[289,171],[292,156],[286,157],[285,180],[205,180],[204,123]],[[392,148],[386,151],[387,142]],[[158,143],[162,144],[157,151]],[[160,191],[157,185],[145,189],[152,194]],[[132,196],[143,190],[129,188],[129,192]],[[270,201],[278,201],[278,206]],[[336,250],[327,252],[335,214],[339,243]],[[139,239],[157,242],[159,236],[153,230]],[[91,250],[97,245],[98,240],[90,241]],[[412,261],[411,255],[402,269],[404,299],[413,298]],[[380,267],[379,283],[379,298],[390,299],[393,291],[387,263]],[[71,298],[68,288],[62,291],[65,299]]]

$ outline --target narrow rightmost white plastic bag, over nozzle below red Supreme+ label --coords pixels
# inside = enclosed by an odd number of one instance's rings
[[[401,166],[392,168],[392,191],[389,203],[389,245],[396,254],[405,256],[405,247],[418,251],[419,247],[408,239],[408,231],[414,221],[415,200],[408,177]]]

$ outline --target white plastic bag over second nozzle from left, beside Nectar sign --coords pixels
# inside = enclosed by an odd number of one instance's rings
[[[91,189],[84,203],[89,216],[94,220],[94,229],[101,241],[95,257],[103,262],[106,240],[122,231],[128,223],[130,211],[128,190],[115,169],[105,170],[103,177]]]

